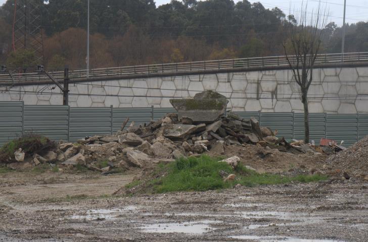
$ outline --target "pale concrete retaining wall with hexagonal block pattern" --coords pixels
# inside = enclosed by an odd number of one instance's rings
[[[364,96],[368,95],[367,67],[315,69],[313,79],[308,93],[310,112],[368,112],[368,96]],[[0,93],[0,101],[62,104],[61,92],[53,86],[13,87]],[[69,87],[72,107],[171,107],[172,97],[193,97],[203,90],[215,90],[229,98],[228,108],[233,111],[303,111],[290,70],[94,81]]]

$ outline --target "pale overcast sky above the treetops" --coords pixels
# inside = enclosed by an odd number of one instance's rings
[[[239,0],[234,0],[238,2]],[[6,0],[0,0],[0,5],[4,4]],[[155,0],[156,6],[167,4],[170,0]],[[258,1],[250,1],[251,3]],[[299,0],[260,0],[259,2],[267,9],[279,7],[286,15],[293,13],[294,9],[299,10],[302,2]],[[321,0],[323,5],[330,10],[329,22],[334,21],[338,25],[342,25],[344,0]],[[308,1],[308,11],[316,9],[318,6],[317,0]],[[291,9],[291,10],[290,10]],[[368,21],[368,0],[347,0],[346,1],[346,23],[356,23],[358,21]]]

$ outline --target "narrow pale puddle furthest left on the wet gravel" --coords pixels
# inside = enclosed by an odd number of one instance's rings
[[[88,210],[83,215],[72,215],[71,219],[83,219],[83,220],[97,220],[97,219],[113,219],[119,216],[124,211],[136,210],[136,206],[126,206],[121,209],[92,209]]]

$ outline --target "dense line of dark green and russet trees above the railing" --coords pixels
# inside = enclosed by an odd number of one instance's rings
[[[84,68],[87,1],[29,1],[42,5],[44,65]],[[19,65],[10,47],[13,4],[0,8],[0,61],[9,66]],[[90,67],[283,54],[294,21],[278,8],[247,0],[172,0],[159,7],[153,0],[90,0]],[[340,48],[341,28],[332,22],[322,51]],[[347,26],[345,50],[368,50],[368,22]]]

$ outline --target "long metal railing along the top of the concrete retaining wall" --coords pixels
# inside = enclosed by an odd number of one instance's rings
[[[291,63],[296,63],[295,56],[289,56]],[[324,63],[339,63],[342,60],[341,53],[318,54],[315,59],[315,64]],[[344,53],[344,62],[360,62],[368,61],[368,52],[351,52]],[[219,59],[215,61],[200,61],[200,62],[183,62],[183,63],[168,63],[168,64],[153,64],[128,67],[112,67],[90,69],[89,78],[105,77],[105,76],[122,76],[136,74],[151,74],[151,73],[175,73],[175,72],[192,72],[205,70],[220,70],[234,68],[252,68],[252,67],[273,67],[273,66],[288,66],[288,61],[285,55],[280,56],[264,56],[251,58],[237,59]],[[50,72],[55,78],[64,79],[64,71]],[[17,82],[40,82],[49,80],[43,73],[14,73],[11,78],[8,74],[0,75],[0,83],[12,81]],[[86,78],[87,70],[70,70],[69,79]]]

